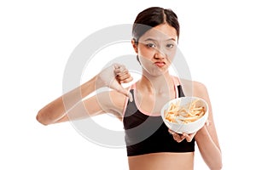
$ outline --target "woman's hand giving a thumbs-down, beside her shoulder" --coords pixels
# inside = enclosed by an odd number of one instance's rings
[[[96,86],[112,88],[121,94],[125,94],[132,101],[131,93],[121,86],[121,83],[131,82],[132,80],[133,78],[125,65],[113,64],[98,74]]]

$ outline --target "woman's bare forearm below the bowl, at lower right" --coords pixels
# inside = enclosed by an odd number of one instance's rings
[[[207,131],[207,127],[202,127],[201,130],[195,135],[196,144],[201,152],[203,160],[207,163],[210,169],[222,168],[222,156],[221,150],[218,145],[214,143],[210,134]]]

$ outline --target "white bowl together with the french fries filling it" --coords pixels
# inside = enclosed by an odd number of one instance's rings
[[[167,102],[161,110],[166,126],[176,133],[195,133],[208,117],[208,105],[204,99],[182,97]]]

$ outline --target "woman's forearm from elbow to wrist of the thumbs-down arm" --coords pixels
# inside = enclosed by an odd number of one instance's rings
[[[37,120],[44,125],[58,122],[66,112],[73,108],[79,101],[96,90],[96,77],[85,82],[79,88],[75,88],[67,94],[50,102],[38,111]]]

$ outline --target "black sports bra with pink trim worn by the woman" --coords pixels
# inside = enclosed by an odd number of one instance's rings
[[[177,86],[179,97],[183,97],[183,90]],[[134,89],[131,89],[134,99]],[[148,116],[137,109],[135,99],[128,101],[124,114],[125,143],[127,156],[139,156],[158,152],[193,152],[195,139],[191,142],[183,140],[177,143],[161,116]]]

